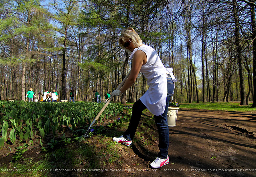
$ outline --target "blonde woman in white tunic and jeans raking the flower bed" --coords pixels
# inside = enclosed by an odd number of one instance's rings
[[[147,92],[133,104],[132,117],[127,130],[121,137],[113,138],[113,141],[130,146],[140,123],[142,111],[148,110],[154,114],[155,123],[159,134],[159,153],[150,163],[152,168],[159,168],[169,164],[169,128],[167,124],[167,112],[169,100],[173,95],[175,77],[172,68],[165,68],[157,52],[150,46],[142,43],[140,36],[131,27],[122,31],[119,37],[119,46],[128,52],[132,52],[132,68],[130,76],[123,87],[114,90],[110,97],[121,96],[136,81],[139,72],[148,79]]]

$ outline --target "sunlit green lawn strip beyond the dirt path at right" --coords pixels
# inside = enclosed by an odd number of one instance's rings
[[[221,110],[221,111],[235,111],[235,112],[256,112],[256,108],[251,108],[252,103],[249,106],[240,106],[240,103],[179,103],[180,109],[201,109],[201,110]]]

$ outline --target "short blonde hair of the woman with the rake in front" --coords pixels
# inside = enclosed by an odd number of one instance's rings
[[[140,36],[132,27],[128,27],[122,30],[121,35],[119,36],[118,43],[119,46],[126,49],[124,47],[124,42],[127,40],[132,39],[132,44],[136,46],[137,48],[142,44],[142,40],[140,39]]]

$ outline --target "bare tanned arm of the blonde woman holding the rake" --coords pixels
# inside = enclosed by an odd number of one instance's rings
[[[136,81],[138,74],[140,72],[140,68],[143,64],[147,62],[147,56],[142,50],[137,50],[132,58],[132,68],[130,76],[124,82],[123,87],[120,89],[122,93],[124,93],[128,88],[132,86],[132,84]]]

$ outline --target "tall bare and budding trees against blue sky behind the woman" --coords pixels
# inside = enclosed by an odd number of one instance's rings
[[[156,49],[177,79],[173,102],[256,104],[255,0],[1,0],[1,99],[37,99],[55,89],[76,101],[104,98],[131,68],[118,46],[125,27]],[[139,74],[114,101],[148,89]]]

